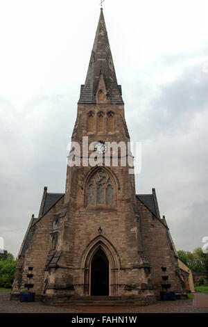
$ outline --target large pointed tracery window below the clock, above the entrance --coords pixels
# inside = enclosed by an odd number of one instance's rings
[[[111,177],[99,169],[87,184],[87,205],[114,205],[114,188]]]

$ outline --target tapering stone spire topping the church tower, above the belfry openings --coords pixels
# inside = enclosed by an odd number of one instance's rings
[[[112,104],[123,104],[121,86],[117,83],[110,44],[107,37],[103,8],[101,8],[85,85],[81,86],[78,103],[96,103],[96,93],[98,92],[98,85],[101,78],[104,79],[109,102]]]

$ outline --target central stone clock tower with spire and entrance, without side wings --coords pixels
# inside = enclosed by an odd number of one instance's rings
[[[71,142],[64,205],[54,216],[56,236],[46,262],[44,300],[60,303],[98,295],[153,301],[135,176],[129,173],[130,136],[103,8]]]

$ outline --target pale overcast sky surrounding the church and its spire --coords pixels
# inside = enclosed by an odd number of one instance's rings
[[[17,255],[44,186],[64,192],[99,0],[0,0],[0,237]],[[137,193],[156,189],[177,250],[208,236],[208,1],[105,0]]]

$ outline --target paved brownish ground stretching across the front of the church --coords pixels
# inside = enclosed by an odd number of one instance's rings
[[[208,313],[208,296],[196,293],[195,299],[157,301],[154,305],[130,307],[51,306],[41,302],[10,301],[10,293],[0,293],[0,313]]]

